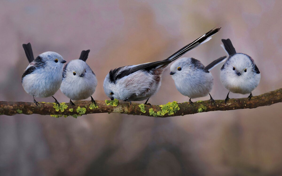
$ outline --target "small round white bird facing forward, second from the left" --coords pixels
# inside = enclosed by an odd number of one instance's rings
[[[74,59],[67,63],[63,68],[63,81],[61,92],[70,98],[70,104],[75,106],[71,100],[83,100],[91,97],[91,102],[96,102],[92,97],[97,86],[95,73],[85,62],[90,50],[83,50],[79,59]]]

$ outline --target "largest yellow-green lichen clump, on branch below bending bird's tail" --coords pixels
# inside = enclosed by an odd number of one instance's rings
[[[177,101],[168,102],[167,104],[160,105],[160,107],[162,108],[162,110],[158,112],[154,112],[153,108],[150,108],[150,115],[154,117],[164,116],[165,114],[172,115],[180,109],[178,107]]]

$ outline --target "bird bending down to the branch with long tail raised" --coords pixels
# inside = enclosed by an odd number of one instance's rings
[[[130,104],[131,101],[147,99],[144,104],[148,104],[149,98],[159,90],[162,73],[168,64],[202,43],[209,41],[211,36],[219,30],[220,28],[216,28],[208,31],[162,61],[122,66],[110,70],[103,83],[105,94],[111,100],[129,101]]]

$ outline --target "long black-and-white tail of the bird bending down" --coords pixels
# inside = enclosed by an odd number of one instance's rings
[[[184,46],[183,48],[181,48],[180,50],[178,50],[176,53],[174,53],[173,55],[169,56],[167,59],[168,61],[174,61],[175,59],[181,57],[183,54],[185,54],[186,52],[193,50],[194,48],[196,48],[197,46],[199,46],[202,43],[205,43],[207,41],[210,40],[210,37],[217,33],[220,30],[220,28],[216,28],[216,29],[212,29],[209,32],[207,32],[206,34],[202,35],[200,38],[196,39],[195,41],[193,41],[192,43],[189,43],[188,45]]]

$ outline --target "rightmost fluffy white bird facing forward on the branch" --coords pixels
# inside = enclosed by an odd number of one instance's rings
[[[247,54],[237,53],[230,39],[222,39],[222,48],[229,57],[221,67],[220,79],[224,87],[229,90],[225,104],[229,100],[229,93],[247,94],[248,101],[252,98],[252,91],[259,85],[261,74],[254,59]]]

